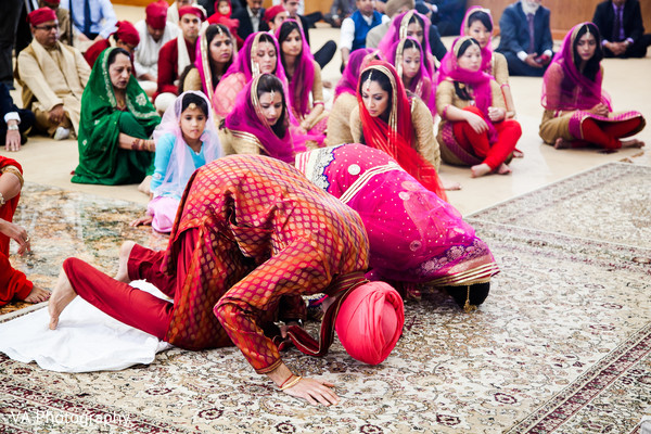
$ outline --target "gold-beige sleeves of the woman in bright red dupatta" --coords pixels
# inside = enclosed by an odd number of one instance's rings
[[[436,171],[441,166],[441,149],[434,138],[434,120],[432,112],[427,105],[420,99],[411,100],[411,125],[413,127],[413,149],[427,162],[430,162]],[[361,119],[359,118],[359,106],[353,108],[350,113],[350,133],[353,141],[361,143]]]

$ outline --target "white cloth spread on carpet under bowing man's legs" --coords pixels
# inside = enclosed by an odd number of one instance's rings
[[[131,285],[166,298],[143,280]],[[81,297],[63,310],[56,330],[49,330],[47,307],[0,323],[0,352],[23,362],[58,372],[117,371],[151,363],[167,342],[124,324]]]

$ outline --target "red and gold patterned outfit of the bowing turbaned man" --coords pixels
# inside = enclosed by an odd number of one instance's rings
[[[235,344],[258,373],[280,363],[263,328],[304,318],[299,295],[363,281],[368,238],[359,216],[275,158],[232,155],[190,179],[166,252],[136,246],[130,279],[162,301],[79,259],[64,270],[77,292],[112,317],[179,347]]]

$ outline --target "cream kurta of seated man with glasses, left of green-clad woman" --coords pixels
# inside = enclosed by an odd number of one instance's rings
[[[81,115],[81,95],[90,76],[90,66],[74,47],[56,42],[46,50],[38,41],[18,54],[15,76],[23,88],[23,106],[33,112],[50,112],[55,105],[63,110],[77,132]]]

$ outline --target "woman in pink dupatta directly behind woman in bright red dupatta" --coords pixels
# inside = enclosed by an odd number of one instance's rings
[[[419,97],[436,114],[436,101],[432,92],[432,77],[425,64],[423,50],[414,38],[407,37],[395,42],[388,53],[388,62],[394,65],[405,89]]]

